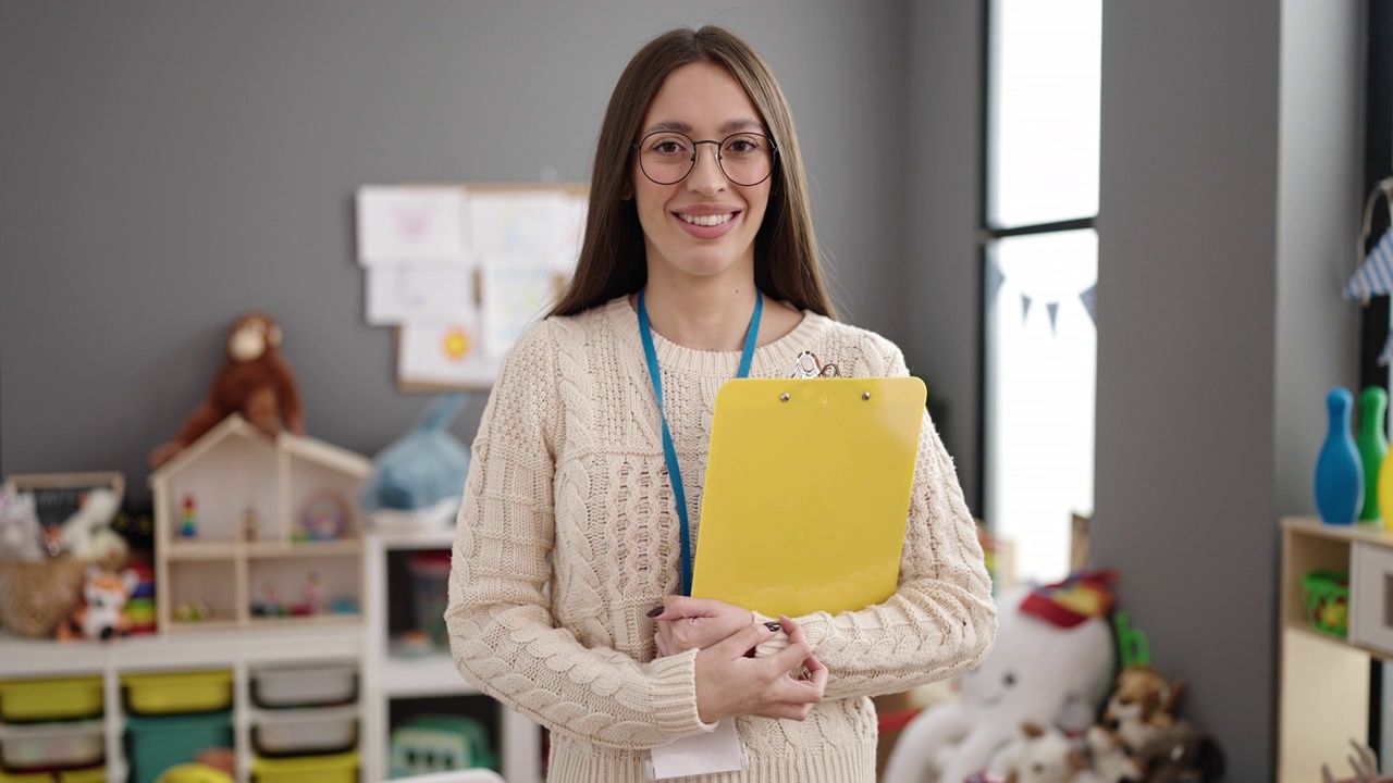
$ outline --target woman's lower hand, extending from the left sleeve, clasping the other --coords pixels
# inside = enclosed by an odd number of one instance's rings
[[[702,722],[737,715],[804,720],[822,701],[827,667],[812,655],[795,621],[780,617],[779,624],[788,634],[788,646],[775,655],[747,658],[776,633],[754,620],[696,653],[696,712]]]

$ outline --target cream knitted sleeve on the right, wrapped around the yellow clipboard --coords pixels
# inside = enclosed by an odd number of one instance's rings
[[[866,373],[908,375],[892,343],[868,339]],[[879,365],[879,366],[875,366]],[[974,667],[996,638],[996,606],[957,471],[928,411],[893,596],[859,612],[798,617],[829,670],[826,698],[898,692]],[[773,652],[786,639],[761,646]]]

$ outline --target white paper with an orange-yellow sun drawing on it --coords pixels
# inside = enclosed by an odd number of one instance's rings
[[[404,323],[397,348],[401,383],[481,389],[493,383],[499,361],[482,350],[478,323]]]

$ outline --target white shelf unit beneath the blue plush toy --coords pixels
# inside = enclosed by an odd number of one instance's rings
[[[366,535],[365,606],[368,644],[365,651],[365,692],[362,777],[387,779],[387,752],[391,733],[390,715],[394,699],[476,697],[488,698],[465,681],[447,652],[421,658],[391,655],[389,621],[387,560],[396,552],[449,550],[454,543],[453,525],[429,532],[369,532]],[[490,699],[492,701],[492,699]],[[496,704],[496,702],[495,702]],[[542,729],[517,712],[497,705],[499,759],[508,783],[542,782]]]

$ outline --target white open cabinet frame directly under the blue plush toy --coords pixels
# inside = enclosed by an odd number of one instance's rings
[[[401,655],[393,637],[410,612],[411,591],[407,563],[412,556],[449,552],[454,543],[453,517],[449,527],[428,532],[369,532],[366,536],[366,658],[364,666],[364,780],[384,780],[389,772],[393,716],[412,712],[414,705],[429,712],[464,711],[490,716],[500,773],[508,783],[542,780],[542,729],[504,708],[461,677],[450,653],[443,649]],[[405,623],[410,624],[410,623]]]

